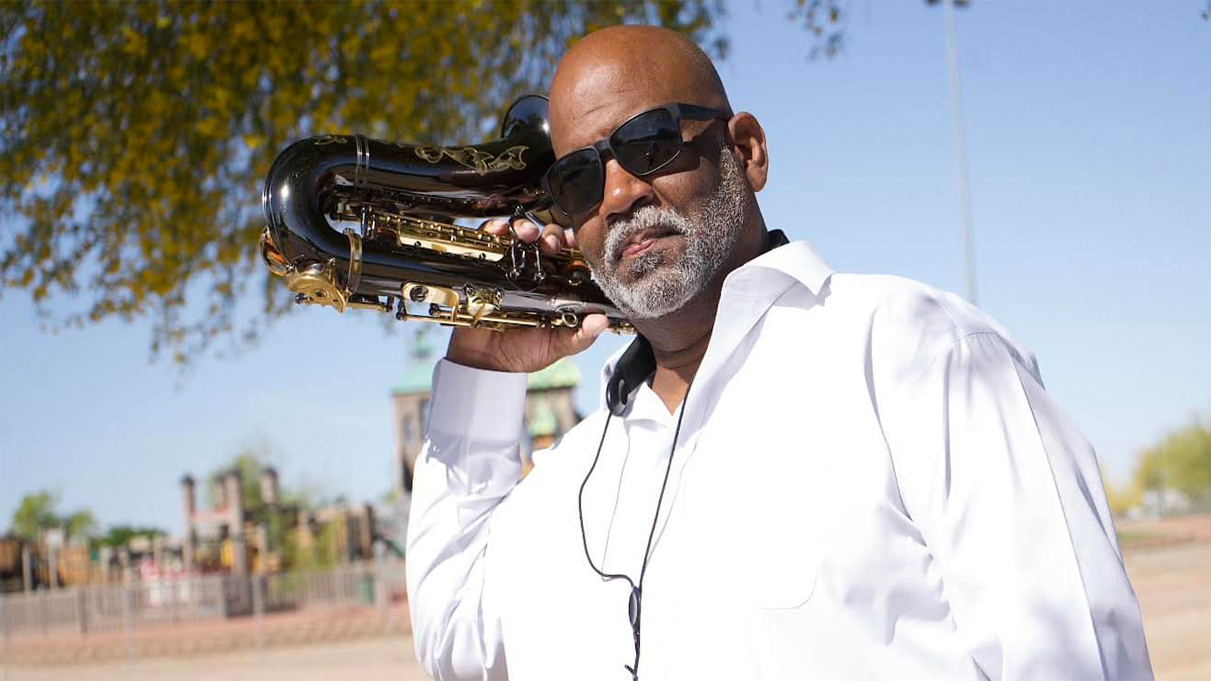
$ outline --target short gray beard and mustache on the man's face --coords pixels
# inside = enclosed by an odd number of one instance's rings
[[[631,319],[652,319],[681,310],[706,290],[740,241],[745,218],[744,173],[723,149],[719,154],[719,183],[693,215],[671,208],[643,206],[630,219],[609,226],[603,249],[604,266],[593,269],[593,279],[618,308]],[[681,255],[662,252],[641,253],[626,264],[631,283],[619,279],[619,248],[643,230],[660,229],[681,235]]]

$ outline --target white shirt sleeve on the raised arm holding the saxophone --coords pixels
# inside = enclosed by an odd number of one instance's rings
[[[521,473],[526,374],[442,359],[431,399],[408,521],[417,658],[435,679],[504,679],[489,538],[493,514]]]

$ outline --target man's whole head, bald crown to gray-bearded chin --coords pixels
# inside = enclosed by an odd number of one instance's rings
[[[576,191],[596,201],[569,217],[576,246],[602,292],[653,347],[684,348],[708,335],[723,278],[765,246],[754,192],[765,184],[768,157],[757,119],[731,111],[719,74],[691,40],[655,27],[612,27],[585,36],[559,60],[550,97],[551,142],[561,162],[660,106],[727,114],[683,116],[681,144],[656,168],[624,167],[614,156],[619,150],[610,146],[607,155],[597,148],[595,165],[582,154],[572,157],[558,180],[580,183]],[[653,155],[667,151],[667,139],[662,149],[647,137],[621,140],[621,149]],[[601,194],[592,183],[601,183]]]

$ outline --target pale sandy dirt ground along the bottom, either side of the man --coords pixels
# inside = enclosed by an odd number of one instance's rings
[[[1196,535],[1211,518],[1198,521]],[[1149,527],[1149,530],[1155,530]],[[1186,526],[1183,525],[1183,531]],[[1211,542],[1126,549],[1159,680],[1211,680]],[[264,651],[90,665],[0,669],[12,681],[412,681],[426,679],[412,637],[366,637]]]

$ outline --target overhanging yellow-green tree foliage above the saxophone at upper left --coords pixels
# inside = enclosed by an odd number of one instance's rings
[[[291,139],[486,137],[563,50],[615,23],[725,44],[717,0],[0,2],[0,287],[58,328],[150,317],[178,362],[291,307],[257,258]],[[15,224],[15,229],[13,225]],[[259,283],[263,314],[235,328]],[[64,310],[51,298],[82,302]],[[186,294],[189,305],[186,307]],[[243,324],[241,322],[241,324]]]

